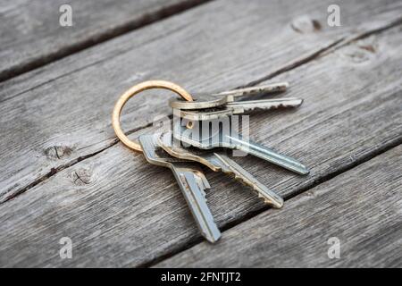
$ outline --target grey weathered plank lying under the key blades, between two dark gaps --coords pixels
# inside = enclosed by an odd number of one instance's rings
[[[398,26],[275,78],[289,80],[287,96],[305,98],[305,104],[253,114],[253,138],[297,157],[311,175],[299,177],[249,156],[236,161],[290,196],[400,143],[401,46]],[[208,204],[220,227],[264,209],[250,189],[205,173],[214,186]],[[4,266],[148,265],[201,240],[172,173],[121,144],[55,173],[5,202],[0,214]],[[73,241],[71,259],[59,257],[62,237]]]

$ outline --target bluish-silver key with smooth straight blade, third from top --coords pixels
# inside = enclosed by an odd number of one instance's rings
[[[289,156],[281,155],[271,148],[264,147],[251,140],[242,139],[235,130],[232,130],[231,126],[229,128],[222,127],[219,121],[197,123],[193,124],[193,129],[188,130],[186,126],[181,125],[180,120],[175,120],[173,123],[173,137],[201,149],[212,149],[214,147],[238,149],[292,172],[299,174],[310,172],[305,165]],[[204,127],[207,127],[205,130],[203,130],[203,124],[207,124],[204,125]]]

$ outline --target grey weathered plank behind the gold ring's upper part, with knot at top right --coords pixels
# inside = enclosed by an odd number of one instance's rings
[[[0,84],[0,202],[115,144],[111,111],[133,83],[164,79],[190,91],[235,88],[383,29],[402,10],[394,1],[339,2],[342,26],[329,27],[330,3],[213,2]],[[295,30],[300,15],[303,27],[319,22],[321,29]],[[170,114],[166,101],[159,93],[132,99],[124,126],[136,130]]]

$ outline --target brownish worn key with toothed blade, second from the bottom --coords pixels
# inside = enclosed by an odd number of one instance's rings
[[[239,164],[236,164],[236,162],[231,160],[229,156],[226,156],[223,151],[180,147],[180,144],[174,144],[172,132],[170,131],[161,133],[158,138],[158,143],[158,145],[163,147],[171,156],[205,164],[214,172],[222,171],[234,175],[235,179],[255,189],[258,197],[263,198],[266,204],[276,208],[283,206],[283,198],[278,196],[271,189],[265,187],[260,181],[256,180],[252,174],[239,166]]]

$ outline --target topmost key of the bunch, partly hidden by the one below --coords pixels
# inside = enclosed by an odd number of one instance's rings
[[[169,105],[172,108],[182,110],[214,108],[234,102],[236,97],[248,97],[257,94],[279,92],[286,90],[288,87],[288,82],[279,82],[252,88],[238,88],[212,95],[198,96],[194,98],[194,101],[184,101],[173,98],[169,101]]]

